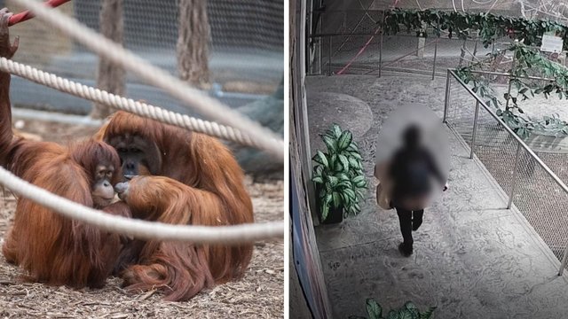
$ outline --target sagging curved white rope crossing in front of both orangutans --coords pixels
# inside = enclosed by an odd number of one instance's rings
[[[233,226],[187,226],[146,222],[103,213],[91,207],[60,198],[36,185],[21,180],[0,167],[0,183],[18,195],[29,198],[77,221],[99,226],[103,230],[140,239],[177,240],[196,244],[235,245],[263,239],[284,237],[284,222],[265,222]]]

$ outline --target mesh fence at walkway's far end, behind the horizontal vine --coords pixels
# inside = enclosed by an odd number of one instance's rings
[[[383,11],[393,6],[448,12],[491,12],[495,15],[560,22],[566,21],[568,14],[568,4],[560,0],[327,0],[323,4],[325,10],[312,15],[317,22],[311,34],[311,74],[379,74],[379,61],[382,60],[384,71],[443,76],[447,68],[483,58],[486,53],[510,44],[510,39],[504,37],[484,48],[475,36],[463,41],[455,36],[449,39],[444,32],[438,41],[432,32],[426,39],[419,40],[414,31],[406,33],[401,27],[398,35],[384,35],[381,45],[381,36],[375,35],[375,32],[383,20]]]

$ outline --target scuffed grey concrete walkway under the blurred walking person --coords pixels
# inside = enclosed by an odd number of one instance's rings
[[[444,79],[308,80],[308,92],[350,94],[370,106],[375,125],[359,137],[359,144],[372,186],[375,140],[385,115],[407,103],[432,107],[439,115],[443,107]],[[312,116],[310,121],[322,118]],[[525,218],[505,208],[501,188],[468,158],[460,139],[449,129],[448,135],[453,154],[450,190],[426,210],[421,229],[414,233],[412,257],[398,253],[398,218],[375,205],[373,187],[359,216],[317,228],[335,318],[365,315],[367,298],[387,309],[406,300],[421,308],[438,306],[436,318],[564,317],[568,281],[556,276],[559,262]]]

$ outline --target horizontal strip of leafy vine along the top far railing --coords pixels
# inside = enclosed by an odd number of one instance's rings
[[[485,47],[503,36],[524,41],[527,45],[539,46],[542,41],[541,36],[545,32],[556,32],[556,35],[563,36],[564,47],[568,47],[568,27],[544,19],[430,9],[421,11],[397,8],[385,12],[383,24],[385,34],[396,35],[400,32],[400,26],[406,27],[408,33],[415,31],[417,36],[427,36],[427,29],[432,28],[437,36],[440,36],[442,31],[446,31],[450,38],[457,35],[460,39],[466,39],[472,31],[478,31]]]

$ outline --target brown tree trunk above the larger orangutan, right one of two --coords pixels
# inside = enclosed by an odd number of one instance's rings
[[[209,86],[207,0],[179,1],[177,71],[180,79],[194,86]]]

